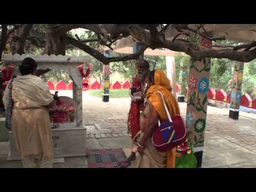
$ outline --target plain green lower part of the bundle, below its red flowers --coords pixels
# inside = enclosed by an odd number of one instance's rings
[[[181,157],[175,158],[175,168],[196,168],[196,156],[191,154],[183,154]]]

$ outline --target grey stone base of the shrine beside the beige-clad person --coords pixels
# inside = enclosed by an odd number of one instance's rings
[[[15,151],[12,132],[9,132],[10,153],[8,161],[20,160]],[[52,129],[54,158],[86,156],[86,128],[76,127],[76,123],[61,124],[57,129]]]

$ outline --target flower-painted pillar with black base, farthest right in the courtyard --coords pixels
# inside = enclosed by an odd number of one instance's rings
[[[230,108],[229,108],[229,118],[238,120],[239,116],[239,106],[242,97],[242,81],[243,81],[243,71],[244,63],[235,61],[234,66],[233,83],[231,85],[230,93]]]

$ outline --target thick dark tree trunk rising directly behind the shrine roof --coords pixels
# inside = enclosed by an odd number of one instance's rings
[[[43,54],[65,55],[67,45],[66,30],[55,25],[47,25],[46,35],[47,39]]]

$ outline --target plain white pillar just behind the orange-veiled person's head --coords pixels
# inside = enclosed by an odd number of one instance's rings
[[[175,70],[175,58],[172,56],[166,56],[166,73],[170,80],[172,87],[172,94],[176,98],[176,70]]]

